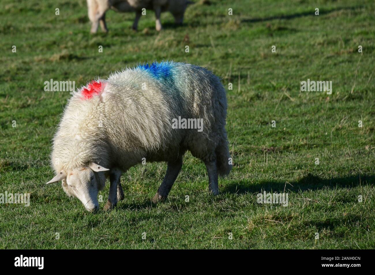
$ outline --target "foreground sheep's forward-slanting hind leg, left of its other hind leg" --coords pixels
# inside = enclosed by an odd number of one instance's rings
[[[166,174],[164,176],[163,182],[157,189],[157,193],[152,199],[153,202],[158,202],[166,199],[171,191],[172,185],[176,180],[178,173],[181,171],[182,167],[182,158],[179,158],[177,161],[168,161],[168,168],[166,169]]]

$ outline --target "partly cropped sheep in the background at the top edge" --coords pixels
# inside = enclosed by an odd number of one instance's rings
[[[162,24],[160,23],[161,12],[171,12],[175,23],[182,24],[185,9],[190,3],[192,2],[188,0],[87,0],[89,19],[92,23],[91,33],[96,33],[99,23],[102,31],[108,31],[107,24],[105,23],[105,12],[108,9],[118,12],[135,12],[133,30],[137,30],[138,28],[142,9],[153,9],[156,16],[156,30],[160,31],[162,29]]]

